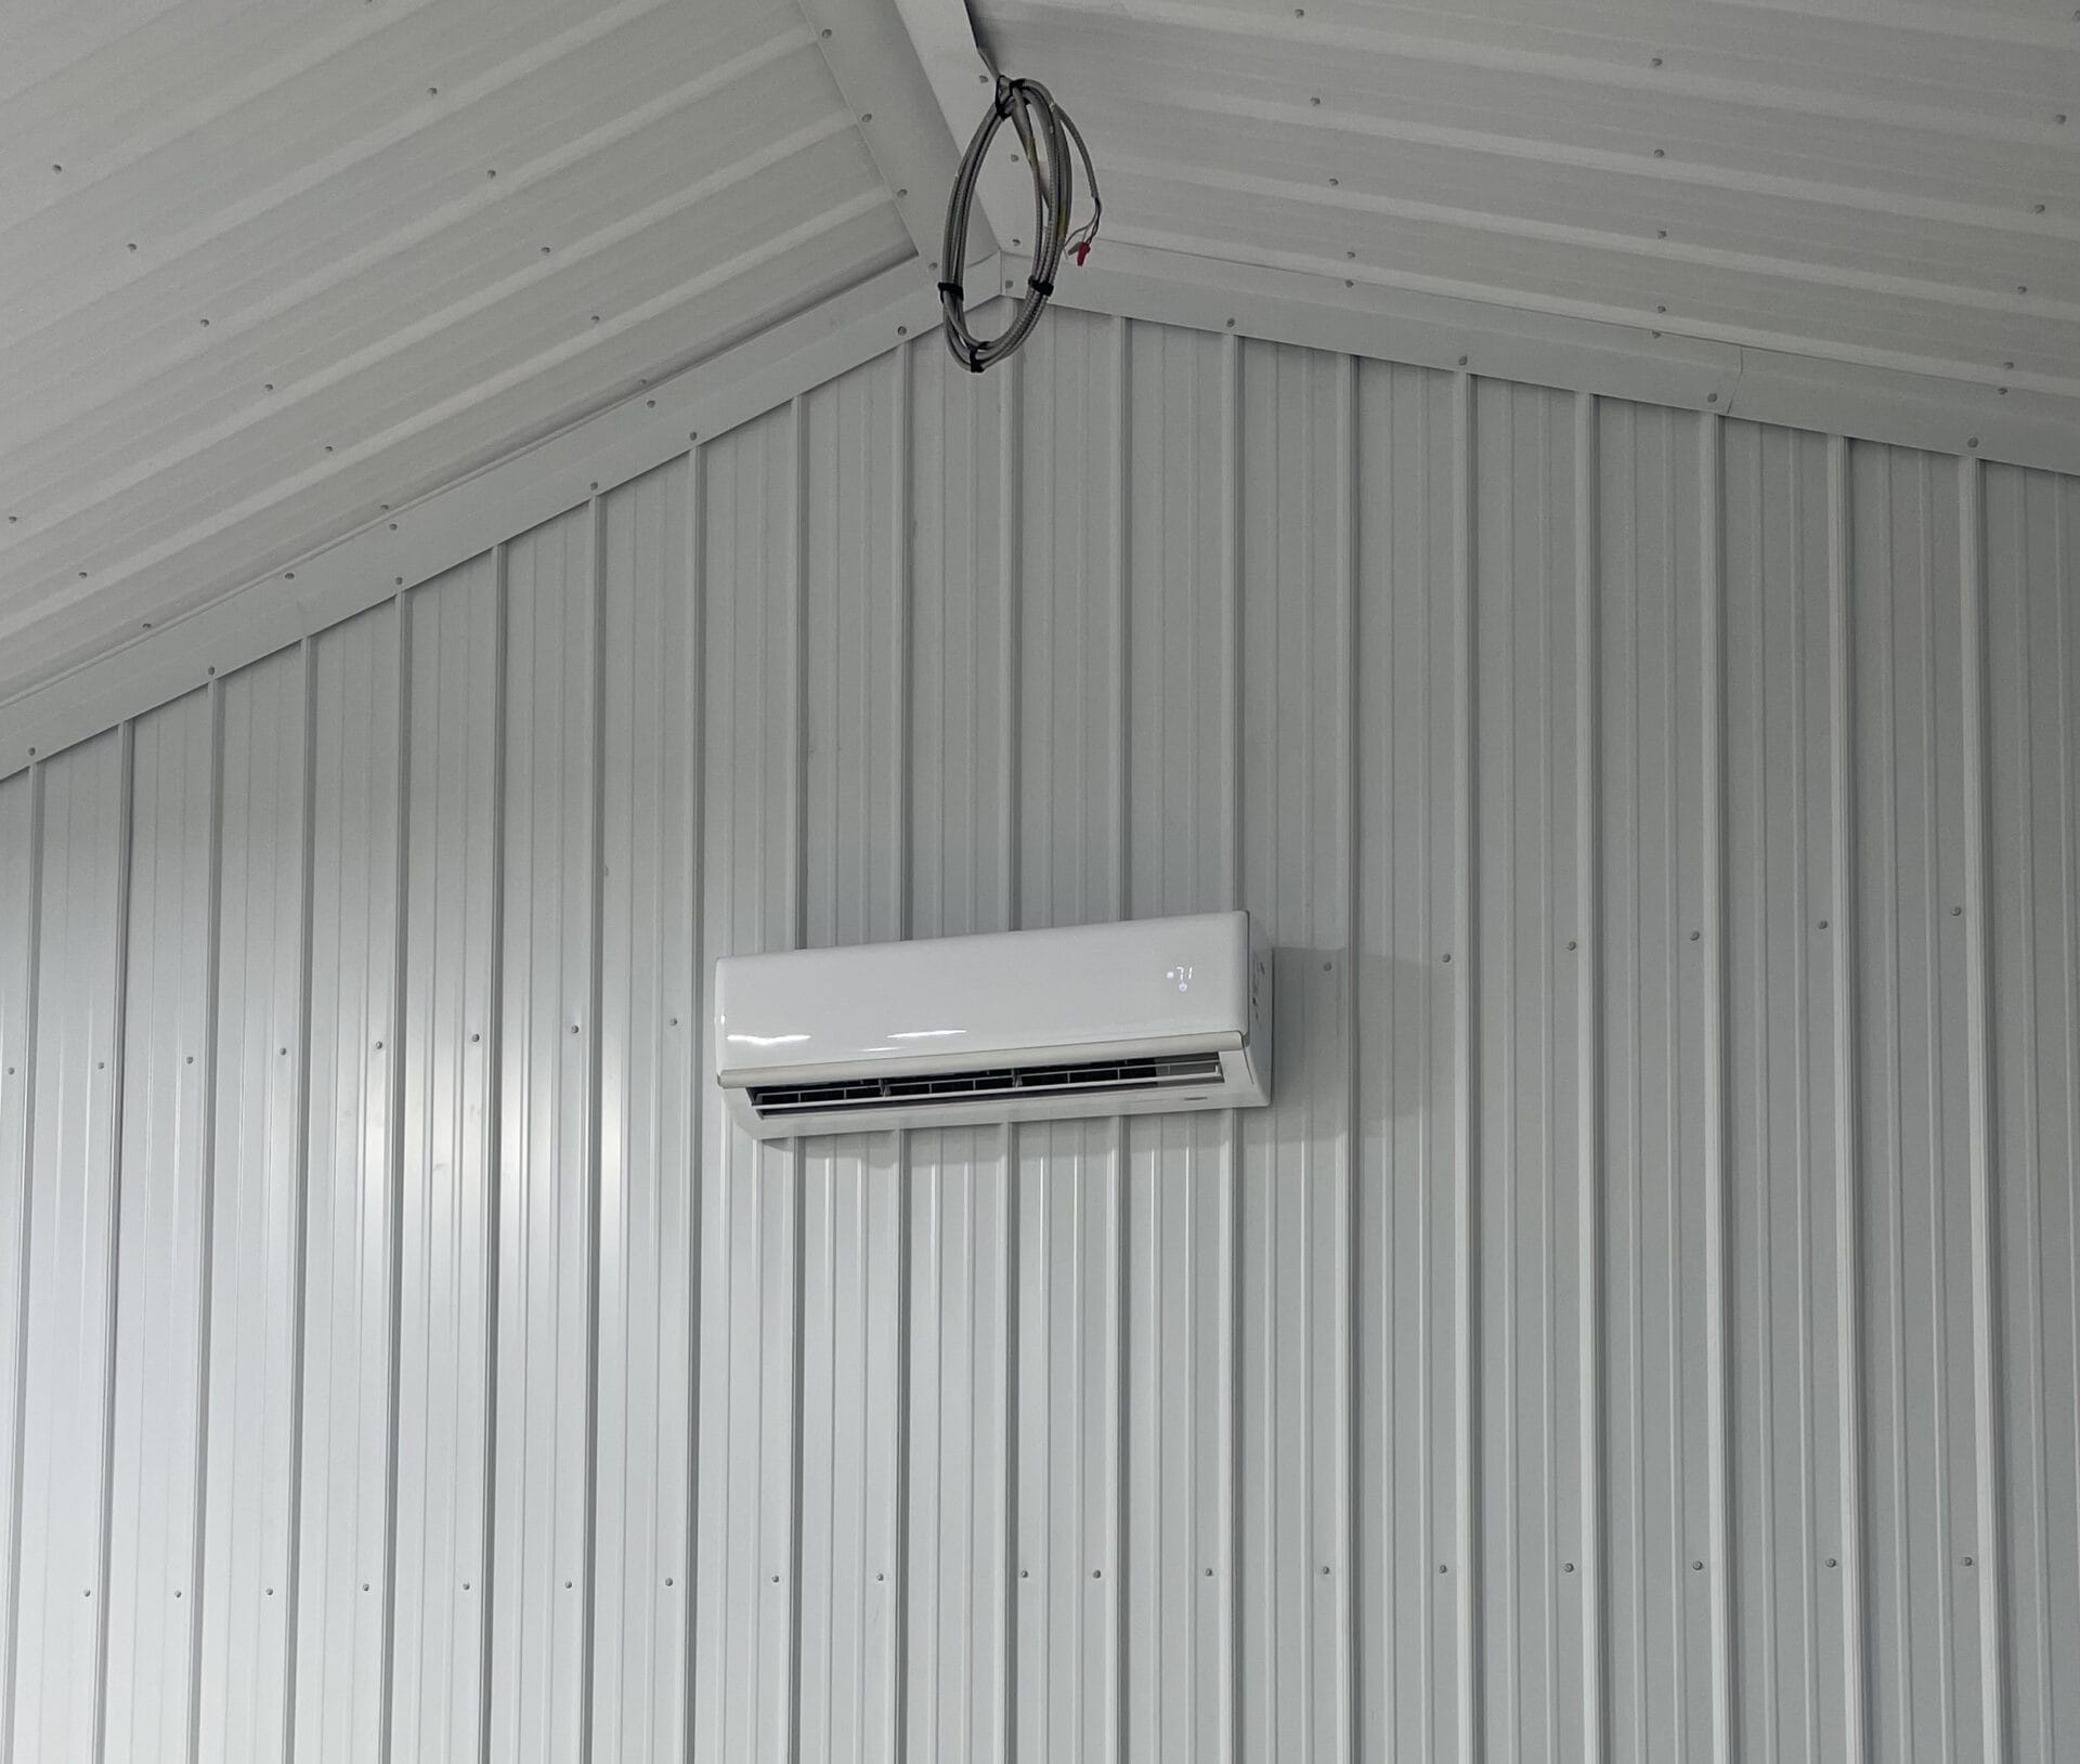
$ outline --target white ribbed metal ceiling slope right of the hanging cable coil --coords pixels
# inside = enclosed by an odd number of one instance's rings
[[[1075,112],[1113,241],[2080,395],[2068,0],[976,12]]]

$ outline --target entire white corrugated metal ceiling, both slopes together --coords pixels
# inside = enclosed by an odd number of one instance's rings
[[[965,139],[963,0],[10,6],[0,701],[909,262],[896,12]],[[1179,302],[1298,270],[2080,412],[2070,0],[978,15],[1092,139],[1094,262]]]

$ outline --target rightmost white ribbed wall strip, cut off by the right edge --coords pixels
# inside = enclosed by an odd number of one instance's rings
[[[2013,1758],[2080,1733],[2080,483],[1986,472],[1995,1227]]]

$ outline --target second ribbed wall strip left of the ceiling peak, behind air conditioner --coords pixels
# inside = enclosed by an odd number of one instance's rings
[[[903,934],[903,356],[813,393],[803,607],[805,940]],[[892,1760],[901,1637],[903,1136],[803,1146],[801,1758]]]

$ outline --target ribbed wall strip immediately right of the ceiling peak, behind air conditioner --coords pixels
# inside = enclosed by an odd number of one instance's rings
[[[1017,924],[1125,911],[1123,582],[1115,489],[1125,325],[1077,314],[1021,370]],[[1044,512],[1044,514],[1042,514]],[[1032,585],[1046,582],[1046,593]],[[1119,1121],[1013,1130],[1019,1581],[1013,1741],[1119,1747]]]

